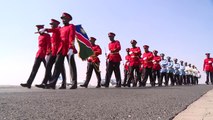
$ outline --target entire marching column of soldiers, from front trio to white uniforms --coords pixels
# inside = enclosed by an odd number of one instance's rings
[[[72,86],[70,89],[77,88],[77,69],[74,59],[74,55],[77,53],[75,48],[75,26],[70,23],[72,16],[68,13],[63,13],[61,16],[63,27],[59,27],[60,22],[51,19],[51,28],[44,28],[44,25],[37,25],[39,34],[38,46],[39,50],[36,54],[35,62],[32,72],[26,83],[21,83],[22,87],[31,88],[32,82],[36,76],[36,73],[40,67],[41,62],[45,65],[45,75],[41,84],[36,85],[38,88],[50,88],[55,89],[59,75],[62,75],[62,85],[59,89],[66,89],[66,75],[64,67],[64,59],[67,58],[70,68],[70,78]],[[52,33],[50,36],[48,33]],[[197,84],[199,78],[199,71],[195,66],[187,63],[183,65],[183,61],[177,63],[177,59],[174,62],[170,57],[164,59],[164,55],[157,55],[157,51],[149,51],[149,46],[144,45],[144,53],[142,54],[140,47],[136,46],[137,41],[132,40],[132,48],[127,49],[126,64],[125,64],[125,78],[122,83],[120,73],[120,62],[122,60],[119,51],[121,45],[119,40],[115,40],[116,34],[113,32],[108,33],[110,43],[108,49],[110,53],[107,55],[106,75],[105,82],[102,86],[109,87],[112,73],[115,73],[116,86],[146,86],[147,79],[149,77],[152,86],[156,85],[156,78],[158,78],[158,85],[162,86],[163,78],[165,78],[164,84],[167,86],[169,79],[171,85],[182,84]],[[93,55],[87,59],[87,73],[86,80],[81,87],[88,87],[91,79],[92,71],[94,70],[97,76],[97,86],[101,87],[101,74],[99,70],[100,60],[99,55],[102,54],[101,47],[95,44],[96,38],[90,37],[91,49]],[[46,59],[45,59],[46,58]],[[51,73],[53,64],[55,64],[53,74]],[[122,84],[121,84],[122,83]]]

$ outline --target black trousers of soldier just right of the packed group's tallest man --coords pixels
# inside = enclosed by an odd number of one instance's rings
[[[146,86],[146,81],[147,81],[148,77],[149,77],[151,86],[154,86],[155,83],[152,78],[152,68],[144,68],[144,78],[142,81],[142,86]]]

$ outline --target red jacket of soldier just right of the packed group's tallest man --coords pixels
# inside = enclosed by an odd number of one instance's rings
[[[153,63],[152,63],[152,59],[153,59],[153,54],[152,52],[145,52],[143,53],[142,56],[142,64],[143,64],[143,68],[152,68]]]

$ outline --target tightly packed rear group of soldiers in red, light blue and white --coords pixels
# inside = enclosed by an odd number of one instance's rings
[[[158,86],[162,86],[163,79],[165,86],[168,86],[169,80],[172,86],[198,84],[198,78],[201,75],[194,65],[184,63],[182,60],[178,63],[177,58],[172,61],[169,56],[165,59],[163,53],[159,56],[157,50],[149,51],[148,45],[143,46],[144,53],[141,55],[140,47],[136,47],[137,41],[132,40],[131,44],[132,48],[126,49],[123,86],[130,87],[131,81],[133,81],[133,87],[137,86],[138,82],[139,86],[146,86],[148,77],[151,86],[155,86],[156,83]]]

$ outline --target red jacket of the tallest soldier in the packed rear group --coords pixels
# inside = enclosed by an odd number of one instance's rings
[[[141,64],[140,57],[141,57],[141,49],[140,47],[130,48],[130,60],[129,66],[139,66]]]

